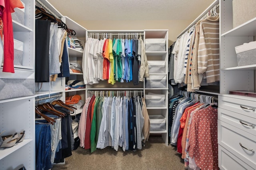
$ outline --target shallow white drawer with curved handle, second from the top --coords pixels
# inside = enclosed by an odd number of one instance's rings
[[[218,119],[256,136],[256,119],[218,108]]]

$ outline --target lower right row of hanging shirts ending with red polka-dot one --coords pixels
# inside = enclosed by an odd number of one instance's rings
[[[170,142],[186,168],[218,169],[218,109],[213,98],[184,91],[170,98]]]

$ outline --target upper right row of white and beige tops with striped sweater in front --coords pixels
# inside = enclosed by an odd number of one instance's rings
[[[220,80],[219,15],[213,9],[182,34],[172,49],[174,81],[187,84],[188,92],[218,85]]]

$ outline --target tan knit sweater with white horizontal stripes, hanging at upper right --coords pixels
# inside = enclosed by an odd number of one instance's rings
[[[198,74],[205,73],[206,82],[220,80],[219,16],[201,22],[198,45]]]

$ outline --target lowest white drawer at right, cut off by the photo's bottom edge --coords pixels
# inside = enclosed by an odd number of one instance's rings
[[[255,170],[228,150],[218,145],[219,161],[218,165],[221,170]]]

